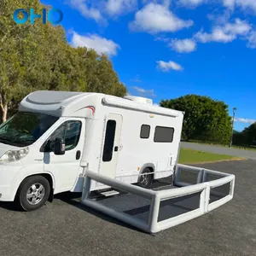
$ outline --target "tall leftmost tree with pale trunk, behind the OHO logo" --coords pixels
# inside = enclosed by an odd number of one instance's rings
[[[24,83],[26,74],[32,74],[36,67],[35,56],[38,54],[36,35],[43,27],[40,23],[20,26],[13,20],[17,6],[22,9],[34,8],[40,12],[42,5],[38,1],[2,0],[0,2],[0,110],[2,119],[7,119],[9,108],[24,96],[29,88]],[[26,65],[24,65],[26,63]]]

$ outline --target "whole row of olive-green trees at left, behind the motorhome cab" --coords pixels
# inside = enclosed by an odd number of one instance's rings
[[[0,1],[0,115],[2,120],[17,110],[20,100],[33,90],[72,90],[125,96],[107,55],[93,49],[73,48],[61,26],[16,24],[15,9],[45,6],[34,0]],[[20,16],[21,18],[21,16]]]

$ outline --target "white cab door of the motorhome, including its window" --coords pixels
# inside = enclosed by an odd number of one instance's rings
[[[66,119],[49,137],[48,149],[44,154],[44,171],[55,177],[55,193],[72,190],[79,173],[80,160],[84,148],[85,120]],[[65,154],[55,155],[55,138],[65,141]]]

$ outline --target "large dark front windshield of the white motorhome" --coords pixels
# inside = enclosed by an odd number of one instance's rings
[[[29,146],[58,119],[42,113],[18,112],[0,125],[0,143],[17,147]]]

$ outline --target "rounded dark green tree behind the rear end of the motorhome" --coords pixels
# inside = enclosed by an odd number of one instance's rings
[[[163,100],[160,106],[185,112],[183,138],[215,143],[229,142],[231,118],[224,102],[207,96],[187,95]]]

